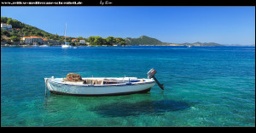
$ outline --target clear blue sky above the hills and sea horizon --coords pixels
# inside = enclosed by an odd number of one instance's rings
[[[1,7],[1,16],[63,36],[255,44],[255,7]]]

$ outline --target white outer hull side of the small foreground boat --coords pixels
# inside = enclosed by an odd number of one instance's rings
[[[60,80],[61,78],[55,78]],[[143,79],[143,82],[131,82],[130,84],[109,85],[75,85],[65,84],[55,79],[45,78],[46,86],[51,93],[74,96],[117,96],[150,91],[155,82],[152,79]]]

